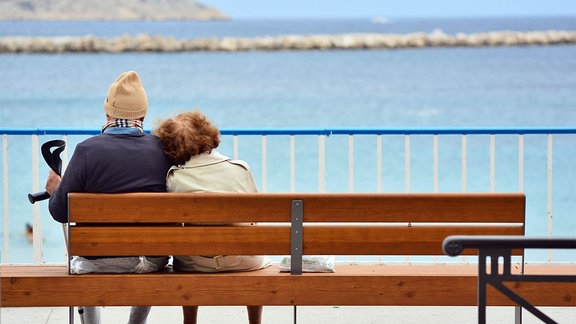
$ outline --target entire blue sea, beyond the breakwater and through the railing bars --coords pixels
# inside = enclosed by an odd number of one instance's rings
[[[4,36],[118,37],[126,34],[175,38],[258,37],[345,33],[485,33],[491,31],[576,31],[576,17],[387,18],[365,19],[233,19],[230,21],[56,22],[2,21]],[[89,128],[104,120],[103,100],[109,84],[122,72],[135,70],[149,99],[145,128],[177,112],[201,109],[221,129],[240,128],[421,128],[421,127],[575,127],[576,46],[419,48],[398,50],[331,50],[187,53],[0,54],[0,128]],[[25,137],[25,138],[24,138]],[[41,137],[40,141],[51,139]],[[458,139],[459,140],[459,139]],[[337,141],[343,160],[328,180],[327,191],[346,191],[347,140]],[[554,178],[554,235],[576,235],[576,137],[557,136]],[[232,155],[232,138],[223,153]],[[278,143],[277,143],[278,142]],[[317,142],[303,141],[314,153],[299,155],[297,169],[316,165]],[[363,158],[361,140],[357,159]],[[4,262],[31,262],[32,246],[23,235],[32,219],[26,195],[31,189],[30,137],[9,139],[9,257]],[[259,146],[260,142],[248,141]],[[286,141],[270,140],[271,146]],[[404,150],[387,146],[384,191],[402,191]],[[401,142],[402,145],[404,142]],[[546,189],[546,138],[527,137],[526,191]],[[517,191],[517,140],[498,142],[499,191]],[[448,155],[459,153],[460,144]],[[418,144],[413,144],[419,150]],[[528,145],[527,145],[528,146]],[[431,150],[430,144],[422,150]],[[271,149],[272,150],[272,149]],[[474,150],[474,148],[471,148]],[[486,146],[482,150],[486,150]],[[532,152],[534,150],[534,152]],[[248,150],[250,151],[250,150]],[[429,153],[427,151],[427,153]],[[1,153],[4,154],[4,153]],[[259,152],[241,153],[262,181]],[[270,173],[287,174],[286,154],[274,153]],[[372,153],[370,153],[372,154]],[[414,153],[415,154],[415,153]],[[472,158],[471,158],[472,160]],[[487,161],[486,158],[484,158]],[[430,164],[429,162],[428,164]],[[358,163],[362,165],[361,162]],[[458,166],[459,167],[459,166]],[[41,179],[47,168],[40,166]],[[452,167],[450,167],[452,168]],[[454,167],[456,169],[457,167]],[[469,167],[473,169],[472,166]],[[429,175],[414,168],[412,191],[430,191]],[[424,168],[425,169],[425,168]],[[485,169],[484,166],[482,169]],[[448,171],[444,171],[449,173]],[[471,171],[472,172],[472,171]],[[484,172],[484,171],[483,171]],[[485,174],[486,172],[484,172]],[[307,174],[304,172],[303,174]],[[453,176],[457,178],[458,174]],[[4,178],[4,176],[2,176]],[[470,191],[488,191],[484,175],[469,175]],[[341,179],[340,179],[341,178]],[[447,176],[450,178],[450,176]],[[373,176],[359,176],[357,191],[374,191]],[[270,177],[268,191],[290,190],[288,177]],[[441,191],[458,190],[458,180],[441,183]],[[299,176],[296,191],[314,191],[317,180]],[[2,188],[4,191],[4,188]],[[530,200],[527,233],[546,235],[546,194]],[[62,228],[40,203],[46,262],[64,261]],[[537,215],[536,215],[537,214]],[[0,231],[3,235],[4,231]],[[4,248],[2,237],[0,247]],[[538,255],[537,258],[542,257]],[[6,258],[6,257],[5,257]],[[536,257],[535,257],[536,258]],[[576,255],[562,254],[576,261]]]

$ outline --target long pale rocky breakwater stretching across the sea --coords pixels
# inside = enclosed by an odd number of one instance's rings
[[[574,31],[455,34],[290,35],[255,38],[176,39],[170,36],[124,35],[116,38],[1,37],[0,53],[288,51],[338,49],[403,49],[426,47],[545,46],[576,44]]]

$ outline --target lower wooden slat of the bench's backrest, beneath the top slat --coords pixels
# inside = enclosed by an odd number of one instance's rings
[[[522,235],[508,226],[316,225],[304,229],[310,255],[443,255],[449,235]],[[70,255],[286,255],[288,226],[72,227]],[[476,254],[474,250],[466,254]],[[519,253],[519,251],[518,251]]]

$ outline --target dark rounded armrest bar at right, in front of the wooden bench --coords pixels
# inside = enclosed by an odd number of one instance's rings
[[[446,237],[442,249],[449,256],[464,249],[576,249],[576,237],[458,235]]]

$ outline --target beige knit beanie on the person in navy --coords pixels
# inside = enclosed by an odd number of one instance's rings
[[[148,98],[138,73],[128,71],[120,74],[110,85],[104,101],[104,111],[116,119],[140,119],[146,116]]]

